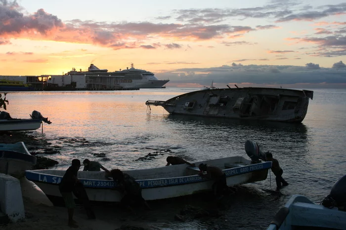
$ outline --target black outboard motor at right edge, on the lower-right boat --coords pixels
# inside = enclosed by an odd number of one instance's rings
[[[322,201],[322,205],[328,208],[346,208],[346,175],[335,182],[329,195]]]

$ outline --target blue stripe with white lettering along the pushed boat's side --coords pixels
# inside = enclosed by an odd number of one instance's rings
[[[268,169],[271,167],[271,161],[262,162],[258,164],[251,164],[242,167],[224,169],[226,177],[249,173],[253,171],[259,171]],[[48,184],[59,184],[62,176],[55,176],[49,174],[38,173],[35,171],[26,171],[25,177],[30,181],[38,181]],[[110,189],[114,187],[114,181],[112,180],[92,180],[92,179],[79,179],[86,188],[98,188],[98,189]],[[174,185],[190,184],[208,179],[202,178],[198,175],[174,177],[174,178],[160,178],[160,179],[148,179],[148,180],[136,180],[142,189],[155,188],[155,187],[167,187]]]

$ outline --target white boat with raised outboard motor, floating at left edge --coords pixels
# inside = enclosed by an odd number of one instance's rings
[[[33,111],[30,116],[28,119],[12,118],[7,112],[1,111],[0,132],[36,130],[41,127],[42,121],[51,123],[48,117],[43,117],[38,111]]]

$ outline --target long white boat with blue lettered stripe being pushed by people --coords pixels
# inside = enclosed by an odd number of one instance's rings
[[[213,160],[195,162],[196,165],[205,163],[221,168],[226,174],[228,186],[240,185],[267,178],[271,161],[253,164],[242,156],[230,156]],[[191,195],[212,189],[213,181],[202,179],[198,167],[187,167],[186,164],[171,165],[157,168],[125,170],[134,177],[142,188],[145,200],[157,200],[184,195]],[[58,189],[65,170],[27,170],[26,178],[33,181],[49,197],[61,197]],[[122,194],[112,190],[113,180],[106,178],[103,171],[78,172],[78,178],[83,183],[89,200],[119,202]]]

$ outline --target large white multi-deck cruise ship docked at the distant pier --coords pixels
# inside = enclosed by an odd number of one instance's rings
[[[87,71],[76,71],[75,68],[65,74],[71,76],[71,81],[83,80],[85,77],[86,88],[97,89],[139,89],[139,88],[163,88],[170,80],[159,80],[149,71],[135,69],[133,64],[126,70],[108,72],[107,69],[99,69],[94,64],[90,64]],[[51,76],[50,82],[57,82],[57,76]],[[82,78],[81,78],[82,77]],[[65,81],[66,82],[66,81]]]

